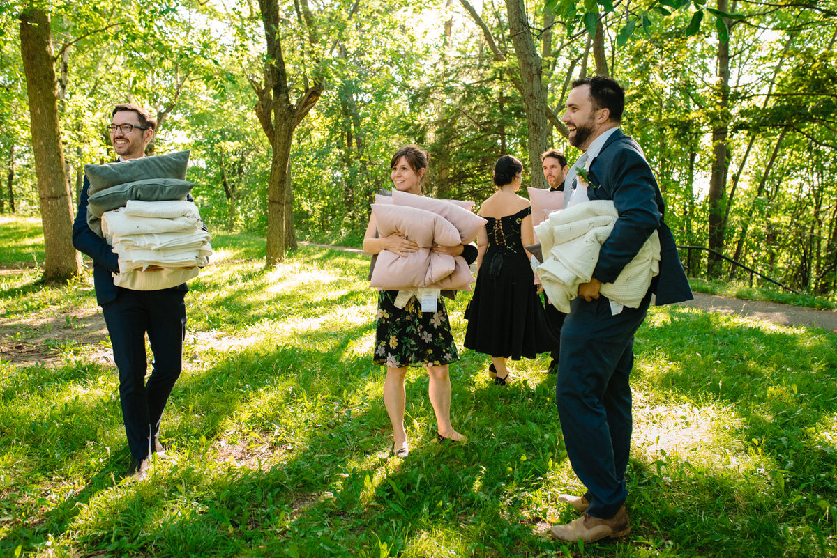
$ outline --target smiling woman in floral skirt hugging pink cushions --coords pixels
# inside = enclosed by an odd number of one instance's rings
[[[405,145],[391,161],[393,186],[396,190],[423,195],[421,181],[427,172],[428,154],[417,145]],[[407,256],[419,246],[408,238],[393,233],[377,236],[375,217],[370,216],[363,251],[377,254],[388,250],[398,256]],[[474,246],[434,246],[433,251],[450,256],[464,256],[474,261]],[[470,257],[469,257],[470,256]],[[470,262],[469,262],[470,263]],[[373,362],[387,367],[383,383],[383,402],[393,424],[392,454],[407,457],[409,445],[404,429],[404,405],[406,392],[404,378],[408,367],[427,367],[429,397],[439,427],[439,442],[461,441],[465,437],[450,424],[450,376],[448,365],[459,360],[454,337],[450,332],[448,313],[441,298],[436,301],[434,312],[422,312],[421,302],[415,296],[404,301],[398,291],[381,291],[377,299],[377,331]]]

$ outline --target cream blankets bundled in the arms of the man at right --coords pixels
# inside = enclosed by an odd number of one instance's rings
[[[535,227],[544,257],[537,275],[549,301],[561,312],[570,311],[578,286],[593,277],[598,252],[618,218],[613,201],[592,200],[552,213]],[[659,272],[660,236],[654,231],[616,281],[602,285],[601,293],[626,307],[639,307],[651,278]]]

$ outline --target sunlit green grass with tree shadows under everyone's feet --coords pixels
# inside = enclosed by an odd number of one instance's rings
[[[0,224],[0,238],[28,235]],[[28,231],[18,227],[16,231]],[[184,372],[162,437],[177,463],[129,461],[116,371],[89,285],[0,275],[0,555],[832,556],[837,335],[655,307],[634,350],[633,530],[557,545],[582,490],[547,355],[497,388],[452,365],[462,446],[435,444],[426,373],[408,373],[408,459],[388,456],[375,296],[362,255],[306,247],[264,271],[264,242],[218,235],[187,295]],[[468,296],[449,305],[461,340]],[[82,335],[82,332],[85,335]]]

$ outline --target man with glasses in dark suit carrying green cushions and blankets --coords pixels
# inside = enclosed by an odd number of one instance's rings
[[[117,104],[111,113],[110,142],[120,161],[146,155],[157,120],[136,104]],[[160,418],[182,368],[183,337],[186,332],[186,283],[160,291],[133,291],[116,287],[119,257],[113,246],[87,224],[90,182],[85,176],[79,210],[73,223],[73,246],[93,258],[96,302],[102,307],[113,359],[119,368],[122,418],[131,449],[131,474],[145,479],[151,468],[151,454],[167,459],[158,434]],[[191,197],[188,198],[191,200]],[[146,383],[146,332],[154,355],[153,369]]]

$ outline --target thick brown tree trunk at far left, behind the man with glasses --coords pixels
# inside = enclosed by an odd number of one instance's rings
[[[80,275],[82,267],[72,243],[73,201],[61,145],[52,33],[44,11],[26,8],[20,13],[20,53],[44,226],[44,282],[63,284]]]

